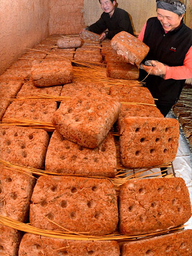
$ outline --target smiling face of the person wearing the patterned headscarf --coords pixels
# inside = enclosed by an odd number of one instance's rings
[[[172,31],[180,25],[183,14],[179,16],[174,12],[163,9],[157,9],[157,19],[160,21],[165,31]]]

